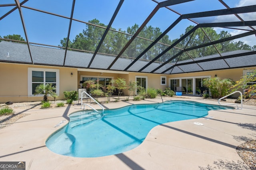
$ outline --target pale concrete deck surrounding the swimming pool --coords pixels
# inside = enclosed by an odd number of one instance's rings
[[[104,104],[113,109],[130,104],[161,103],[166,99]],[[207,104],[202,98],[171,98]],[[95,106],[100,109],[99,106]],[[144,142],[130,151],[98,158],[75,158],[50,151],[46,139],[68,123],[68,115],[80,106],[54,109],[15,109],[28,114],[0,129],[0,162],[24,161],[26,170],[208,170],[249,169],[236,152],[248,139],[256,140],[256,106],[209,111],[198,119],[175,121],[151,129]],[[54,127],[60,124],[58,127]],[[202,123],[196,125],[194,122]]]

